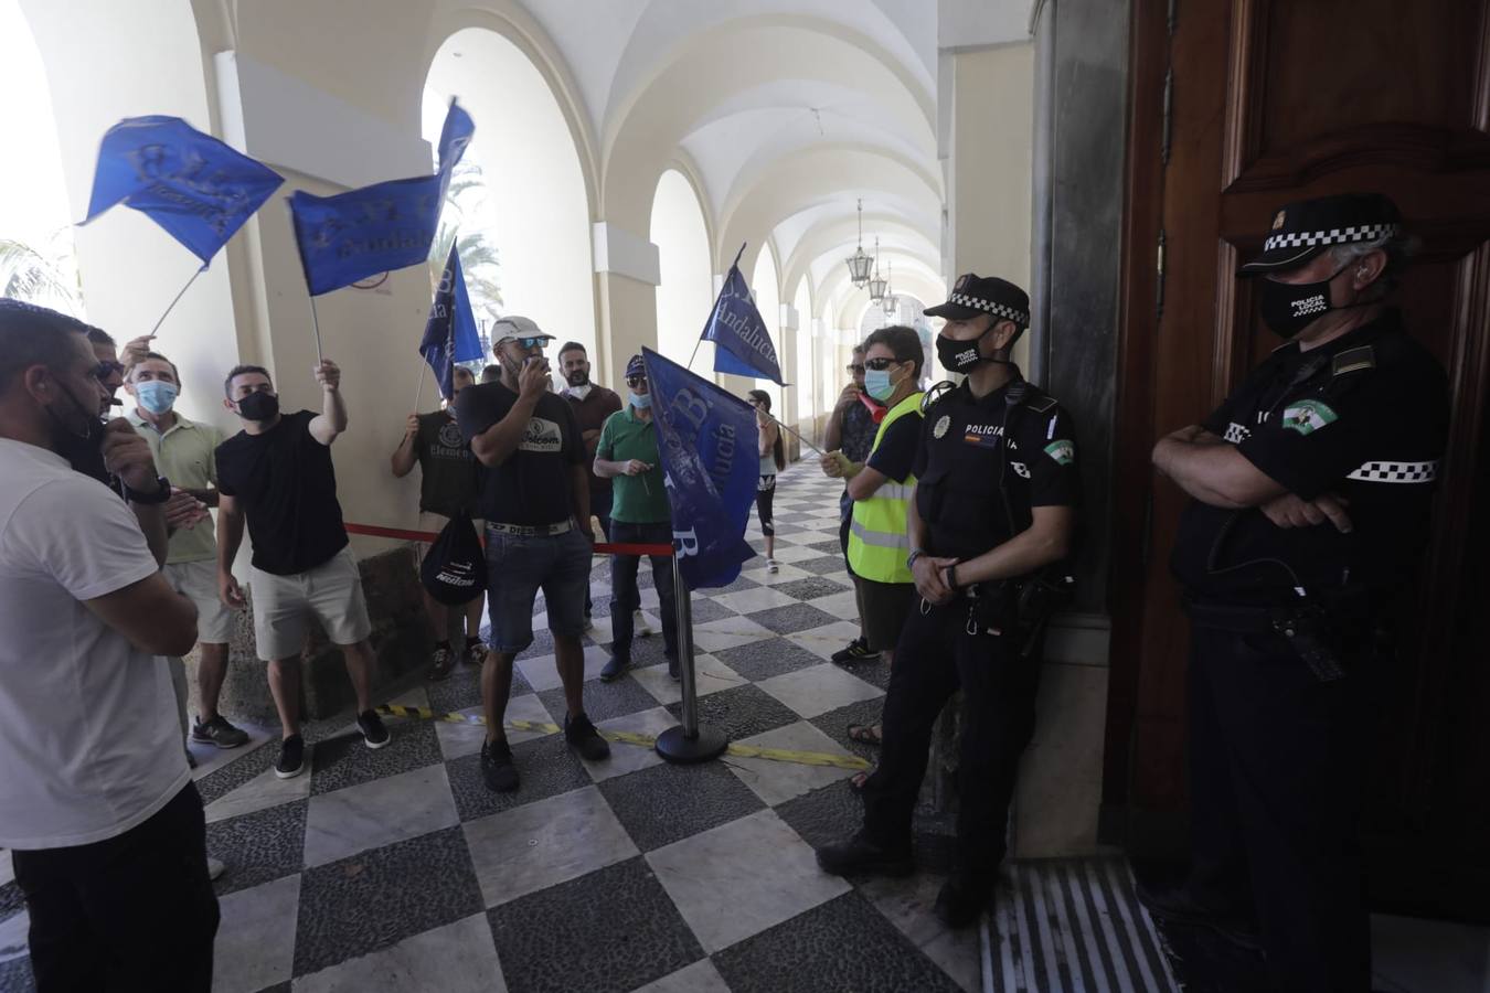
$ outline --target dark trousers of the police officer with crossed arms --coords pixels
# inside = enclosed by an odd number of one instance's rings
[[[1192,631],[1189,895],[1256,917],[1275,990],[1366,993],[1368,660],[1322,683],[1281,636]]]

